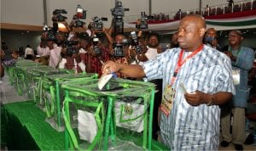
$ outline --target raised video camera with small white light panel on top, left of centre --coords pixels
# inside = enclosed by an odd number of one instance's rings
[[[79,28],[85,25],[85,22],[81,21],[80,19],[86,19],[86,10],[84,10],[84,8],[82,8],[81,5],[77,5],[77,13],[73,15],[74,27]]]

